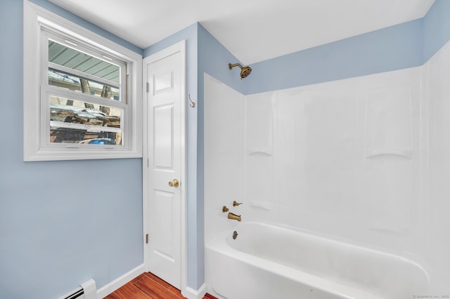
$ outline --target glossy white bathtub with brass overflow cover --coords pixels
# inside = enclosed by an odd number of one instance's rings
[[[411,260],[259,222],[214,238],[206,257],[208,291],[221,298],[406,299],[428,291],[428,275]]]

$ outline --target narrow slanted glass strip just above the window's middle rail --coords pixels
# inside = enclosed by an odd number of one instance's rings
[[[84,84],[84,86],[82,86]],[[96,95],[111,100],[120,100],[119,88],[102,84],[89,79],[77,77],[75,74],[68,74],[58,69],[49,68],[49,85]]]

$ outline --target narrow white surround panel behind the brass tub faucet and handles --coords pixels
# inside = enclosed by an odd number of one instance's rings
[[[245,97],[205,74],[205,242],[236,220],[221,211],[243,214],[243,109]],[[246,215],[243,215],[243,219]]]

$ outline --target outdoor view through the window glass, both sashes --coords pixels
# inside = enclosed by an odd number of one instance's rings
[[[49,37],[47,44],[49,142],[122,145],[124,109],[120,107],[120,65],[110,62],[112,59],[106,55],[103,55],[102,60],[78,51],[72,48],[79,48],[73,42],[65,41],[68,44],[66,46]],[[124,67],[123,62],[122,65]],[[66,96],[52,93],[57,93],[58,89],[69,93]],[[80,93],[90,98],[75,100]]]

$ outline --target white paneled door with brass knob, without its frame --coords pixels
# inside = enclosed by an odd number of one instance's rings
[[[185,160],[183,62],[181,52],[155,61],[144,60],[143,76],[147,81],[144,100],[148,125],[147,267],[179,289],[184,219],[181,214]]]

